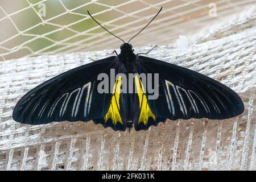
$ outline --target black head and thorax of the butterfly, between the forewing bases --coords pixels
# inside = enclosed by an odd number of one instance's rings
[[[123,66],[125,67],[125,72],[127,73],[135,73],[135,60],[137,55],[133,52],[133,46],[131,44],[122,44],[120,46],[121,53],[118,55],[118,60],[121,61]]]

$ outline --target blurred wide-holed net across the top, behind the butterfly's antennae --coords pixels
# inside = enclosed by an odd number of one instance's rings
[[[131,38],[164,7],[151,26],[133,41],[136,46],[171,44],[181,34],[197,33],[205,22],[221,20],[245,9],[254,0],[121,0],[52,1],[19,0],[0,3],[0,59],[37,56],[60,52],[117,48],[120,42],[92,22],[86,10],[124,40]],[[217,17],[209,16],[209,4],[217,7]],[[45,15],[40,14],[45,5]],[[249,11],[249,6],[246,10]],[[155,36],[158,35],[158,36]]]

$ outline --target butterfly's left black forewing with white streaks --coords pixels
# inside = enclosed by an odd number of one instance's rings
[[[115,61],[115,56],[94,61],[36,86],[18,101],[13,119],[20,123],[39,125],[52,121],[104,118],[112,103],[112,93],[97,92],[100,82],[97,76],[99,73],[109,75],[110,69],[115,67]],[[106,122],[102,124],[110,126]]]

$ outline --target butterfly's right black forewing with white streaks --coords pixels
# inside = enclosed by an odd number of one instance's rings
[[[226,119],[243,113],[241,98],[228,86],[212,78],[144,56],[139,56],[138,68],[140,73],[159,74],[159,93],[156,100],[149,100],[144,94],[147,98],[144,110],[154,117],[146,118],[144,121],[148,122],[144,123],[135,119],[137,130],[146,130],[150,125],[164,122],[164,118]]]

